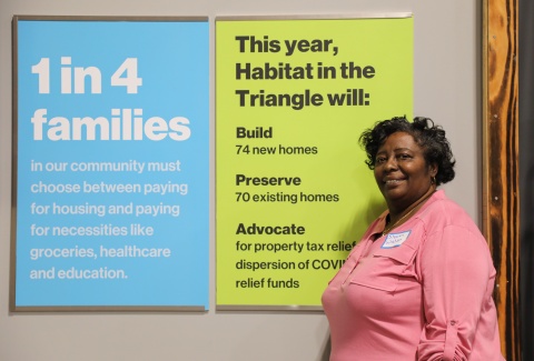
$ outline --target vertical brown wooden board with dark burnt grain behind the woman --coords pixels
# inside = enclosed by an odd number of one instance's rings
[[[518,178],[518,0],[484,2],[484,224],[497,280],[503,355],[521,360],[520,178]]]

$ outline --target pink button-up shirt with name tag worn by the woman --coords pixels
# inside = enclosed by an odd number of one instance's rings
[[[323,294],[330,361],[501,361],[484,237],[443,191],[382,235],[382,214]]]

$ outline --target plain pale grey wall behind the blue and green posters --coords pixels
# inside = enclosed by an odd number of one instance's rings
[[[328,323],[324,314],[215,311],[214,230],[210,233],[210,311],[207,313],[9,313],[13,14],[208,16],[212,40],[217,16],[414,12],[415,114],[433,118],[447,131],[457,158],[457,176],[445,187],[447,194],[479,223],[482,27],[478,3],[475,0],[1,0],[0,361],[328,359]],[[212,129],[214,114],[211,109]],[[211,154],[211,160],[214,158]],[[211,161],[211,174],[214,169]]]

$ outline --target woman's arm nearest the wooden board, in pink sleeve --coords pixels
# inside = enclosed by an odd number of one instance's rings
[[[468,360],[495,269],[478,232],[447,225],[429,234],[418,260],[425,327],[418,360]]]

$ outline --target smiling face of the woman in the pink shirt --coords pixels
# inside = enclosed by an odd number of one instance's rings
[[[389,210],[403,211],[432,187],[435,164],[426,164],[423,149],[405,132],[386,138],[375,159],[375,180]]]

